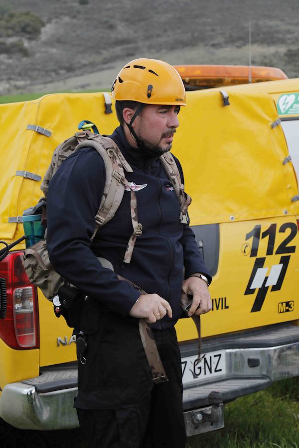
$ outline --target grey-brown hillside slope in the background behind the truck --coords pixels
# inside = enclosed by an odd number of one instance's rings
[[[248,64],[249,21],[253,64],[299,76],[298,0],[10,0],[9,7],[34,12],[45,26],[38,39],[22,38],[29,56],[0,54],[0,94],[110,88],[121,66],[140,56]]]

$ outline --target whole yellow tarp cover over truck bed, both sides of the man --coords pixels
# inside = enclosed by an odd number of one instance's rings
[[[23,234],[21,216],[41,196],[40,182],[16,176],[17,170],[43,176],[54,148],[88,119],[110,134],[118,121],[105,113],[102,93],[53,94],[25,103],[0,105],[0,236]],[[271,127],[277,111],[267,94],[232,93],[223,106],[220,92],[189,92],[173,152],[183,166],[192,196],[191,224],[223,223],[298,214],[298,194],[281,126]],[[114,105],[113,105],[114,110]],[[39,125],[51,136],[27,130]],[[87,173],[86,173],[87,174]],[[79,181],[79,180],[78,180]]]

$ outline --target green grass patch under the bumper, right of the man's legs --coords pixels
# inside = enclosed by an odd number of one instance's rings
[[[299,378],[225,406],[225,428],[190,437],[186,448],[299,448]]]

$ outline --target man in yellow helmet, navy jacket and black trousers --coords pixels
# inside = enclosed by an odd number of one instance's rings
[[[177,197],[158,158],[172,146],[185,90],[169,64],[137,59],[120,71],[112,97],[120,126],[111,138],[133,168],[126,178],[135,190],[143,225],[131,262],[125,259],[132,235],[130,188],[114,218],[90,241],[105,184],[105,165],[93,148],[82,148],[63,162],[47,199],[51,263],[89,297],[80,312],[79,330],[88,348],[78,363],[75,407],[89,447],[183,448],[181,363],[174,330],[183,317],[181,289],[193,294],[189,316],[211,309],[211,278],[192,230],[180,222]],[[152,324],[168,382],[153,385],[139,334],[141,318]]]

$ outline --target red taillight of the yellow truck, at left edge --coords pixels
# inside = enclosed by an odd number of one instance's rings
[[[0,277],[6,280],[7,312],[0,320],[0,338],[13,348],[37,348],[37,291],[22,265],[23,252],[12,252],[0,262]]]

